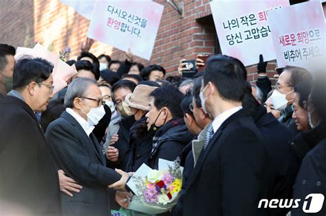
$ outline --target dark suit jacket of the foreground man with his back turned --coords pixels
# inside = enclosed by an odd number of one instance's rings
[[[215,132],[189,177],[184,215],[265,215],[268,160],[251,117],[239,110]]]

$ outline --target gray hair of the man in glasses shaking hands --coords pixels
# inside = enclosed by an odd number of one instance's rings
[[[68,86],[67,93],[65,93],[65,106],[67,108],[74,108],[74,99],[76,97],[83,97],[91,85],[96,85],[96,80],[89,77],[77,77],[76,80],[72,81]]]

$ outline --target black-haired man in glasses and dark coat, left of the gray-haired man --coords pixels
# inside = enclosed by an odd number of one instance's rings
[[[0,100],[0,215],[61,215],[58,173],[34,112],[53,97],[50,62],[21,59]]]

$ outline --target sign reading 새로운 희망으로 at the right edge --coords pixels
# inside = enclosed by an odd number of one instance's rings
[[[268,16],[278,67],[325,70],[325,21],[318,1],[271,11]]]

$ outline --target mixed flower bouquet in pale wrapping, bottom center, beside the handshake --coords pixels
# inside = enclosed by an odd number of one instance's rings
[[[178,159],[173,162],[160,159],[159,170],[143,164],[127,183],[135,193],[129,209],[147,214],[170,211],[182,187],[182,170]]]

